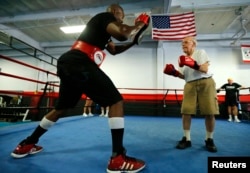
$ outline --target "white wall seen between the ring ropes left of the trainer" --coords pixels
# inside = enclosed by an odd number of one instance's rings
[[[29,64],[53,73],[56,73],[56,69],[54,66],[48,65],[44,62],[41,62],[35,58],[18,58],[16,59],[25,64]],[[20,76],[23,78],[28,78],[36,81],[59,81],[59,78],[53,75],[47,75],[47,73],[43,73],[38,70],[34,70],[32,68],[26,67],[24,65],[20,65],[11,61],[7,61],[0,58],[0,68],[1,72],[12,74],[15,76]],[[41,91],[41,88],[44,88],[44,84],[34,83],[27,80],[6,77],[0,75],[0,90],[15,90],[15,91]],[[56,88],[55,88],[55,91]]]

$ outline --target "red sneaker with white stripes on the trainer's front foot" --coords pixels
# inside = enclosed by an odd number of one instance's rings
[[[133,157],[128,157],[125,154],[120,154],[116,157],[111,157],[109,160],[108,173],[136,173],[145,167],[145,162]]]

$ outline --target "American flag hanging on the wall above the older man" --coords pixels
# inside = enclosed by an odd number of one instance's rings
[[[193,12],[175,15],[152,15],[152,39],[182,40],[196,36]]]

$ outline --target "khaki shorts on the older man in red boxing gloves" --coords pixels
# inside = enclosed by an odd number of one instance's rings
[[[199,79],[185,84],[181,114],[195,115],[197,108],[201,115],[219,114],[213,78]]]

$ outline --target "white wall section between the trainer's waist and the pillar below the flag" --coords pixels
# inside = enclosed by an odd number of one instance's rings
[[[101,68],[110,76],[117,88],[157,88],[155,46],[135,46],[122,54],[108,55]],[[134,91],[130,90],[129,93],[131,92]]]

